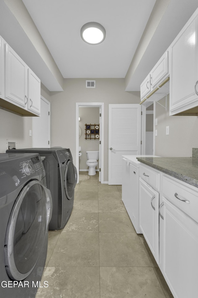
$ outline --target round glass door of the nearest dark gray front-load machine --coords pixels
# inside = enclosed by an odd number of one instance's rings
[[[42,251],[51,217],[50,191],[37,180],[19,193],[9,218],[4,256],[10,279],[23,280],[32,272]]]

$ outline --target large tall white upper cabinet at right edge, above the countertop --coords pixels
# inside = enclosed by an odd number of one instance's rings
[[[198,106],[198,9],[170,45],[170,115]]]

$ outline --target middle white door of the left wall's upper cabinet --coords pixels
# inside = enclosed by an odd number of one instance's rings
[[[28,67],[7,43],[5,46],[5,98],[27,109]]]

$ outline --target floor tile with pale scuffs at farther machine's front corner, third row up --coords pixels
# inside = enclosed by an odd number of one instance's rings
[[[73,213],[62,233],[65,232],[98,232],[97,213]]]

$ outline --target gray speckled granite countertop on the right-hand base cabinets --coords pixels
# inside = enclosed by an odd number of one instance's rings
[[[167,175],[198,187],[197,157],[137,157],[137,160]]]

